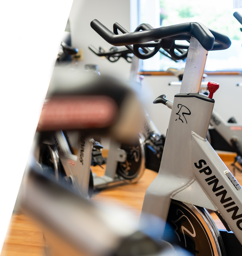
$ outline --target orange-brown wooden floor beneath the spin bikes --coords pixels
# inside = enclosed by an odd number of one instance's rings
[[[231,166],[231,160],[233,158],[226,156],[226,154],[223,157],[222,152],[221,158],[228,169],[233,173],[233,167]],[[92,167],[92,170],[93,172],[96,172],[97,175],[102,175],[104,173],[104,169],[101,169],[99,166]],[[116,203],[120,202],[122,205],[127,205],[130,208],[132,207],[133,212],[138,219],[145,191],[156,175],[156,172],[146,169],[138,183],[102,190],[92,198],[92,200],[101,200],[108,197],[111,200],[115,200]],[[242,173],[236,171],[235,178],[242,184]],[[221,221],[213,212],[211,213],[211,216],[218,228],[224,228]],[[36,223],[33,223],[32,220],[24,215],[13,214],[1,256],[43,256],[43,248],[44,241],[41,227]]]

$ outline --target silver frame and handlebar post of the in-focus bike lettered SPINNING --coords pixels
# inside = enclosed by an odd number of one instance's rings
[[[172,108],[159,173],[145,193],[146,213],[166,220],[171,199],[219,211],[242,243],[242,190],[205,139],[214,100],[199,94],[208,51],[191,37],[180,94]],[[160,222],[162,237],[165,221]],[[146,224],[147,225],[147,224]],[[156,226],[157,222],[152,223]]]

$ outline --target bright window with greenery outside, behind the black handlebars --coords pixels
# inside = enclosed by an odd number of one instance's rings
[[[238,1],[238,0],[234,0]],[[235,4],[234,4],[235,6]],[[242,25],[233,13],[232,0],[138,0],[138,24],[149,23],[153,27],[170,26],[185,22],[201,22],[208,28],[227,35],[232,45],[226,50],[209,51],[206,71],[242,70]],[[184,41],[181,43],[184,44]],[[185,41],[186,43],[186,41]],[[186,60],[175,62],[157,53],[142,61],[143,71],[166,71],[168,68],[184,68]]]

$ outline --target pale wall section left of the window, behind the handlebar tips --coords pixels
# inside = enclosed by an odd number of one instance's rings
[[[88,45],[95,48],[102,46],[107,50],[112,47],[101,38],[90,26],[93,19],[99,20],[103,25],[113,31],[113,24],[118,22],[126,30],[130,30],[130,1],[122,0],[74,0],[70,13],[70,27],[72,45],[83,49],[83,61],[79,67],[84,69],[85,64],[97,64],[101,74],[112,74],[123,80],[128,80],[131,63],[121,58],[115,63],[109,62],[105,57],[98,57],[88,49]]]

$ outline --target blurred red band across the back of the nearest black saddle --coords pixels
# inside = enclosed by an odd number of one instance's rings
[[[118,112],[116,102],[104,95],[52,97],[44,103],[37,131],[105,128]]]

